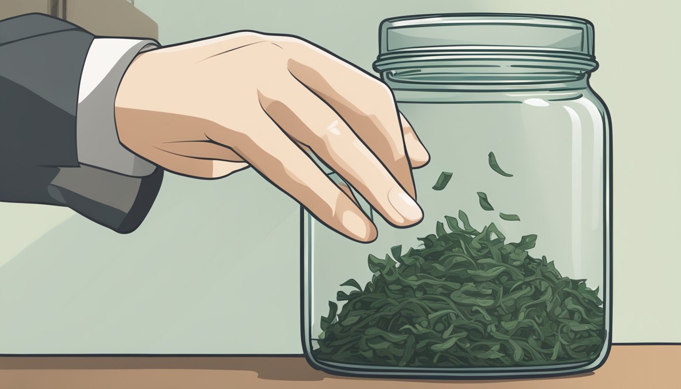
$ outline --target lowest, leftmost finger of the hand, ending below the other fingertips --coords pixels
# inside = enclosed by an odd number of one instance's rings
[[[253,128],[238,136],[236,153],[322,223],[355,240],[375,240],[375,225],[265,112],[250,117]],[[234,142],[235,136],[223,131],[215,140]]]

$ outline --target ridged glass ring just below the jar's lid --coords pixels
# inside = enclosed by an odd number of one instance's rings
[[[394,82],[524,83],[570,81],[595,71],[595,57],[550,48],[440,46],[385,52],[374,69]]]

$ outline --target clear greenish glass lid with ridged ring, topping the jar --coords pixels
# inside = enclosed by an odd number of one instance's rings
[[[393,81],[563,81],[582,78],[598,67],[591,22],[567,16],[388,18],[381,22],[379,41],[381,50],[373,68]]]

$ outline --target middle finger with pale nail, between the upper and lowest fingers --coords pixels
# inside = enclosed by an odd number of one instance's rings
[[[423,212],[409,193],[336,112],[293,78],[284,90],[280,99],[262,95],[261,102],[287,134],[309,146],[388,222],[405,226],[422,219]]]

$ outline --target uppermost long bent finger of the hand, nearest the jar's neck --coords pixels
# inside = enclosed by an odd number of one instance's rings
[[[390,89],[360,69],[312,46],[294,55],[289,71],[345,119],[414,197],[411,168]]]

